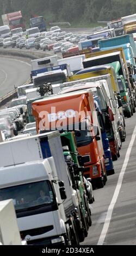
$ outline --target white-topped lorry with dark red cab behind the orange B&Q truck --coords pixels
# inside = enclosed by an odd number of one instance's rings
[[[94,72],[93,72],[93,74],[94,74]],[[99,98],[101,99],[100,108],[101,108],[102,113],[104,113],[104,115],[106,113],[106,121],[107,121],[106,123],[108,123],[108,126],[106,125],[106,127],[107,127],[106,132],[107,132],[107,137],[109,139],[110,151],[112,153],[112,159],[113,159],[113,161],[118,160],[118,157],[120,156],[119,148],[121,146],[120,135],[119,135],[119,130],[118,130],[118,126],[119,126],[118,123],[120,120],[120,116],[119,116],[119,113],[117,110],[118,105],[117,105],[117,100],[116,100],[115,94],[113,92],[110,75],[107,74],[107,75],[100,76],[97,74],[97,76],[94,76],[94,75],[91,76],[91,72],[90,72],[89,76],[87,76],[88,78],[85,78],[85,77],[86,77],[85,75],[84,76],[78,75],[78,78],[76,80],[76,75],[75,75],[73,82],[67,82],[64,84],[60,84],[60,88],[62,89],[62,92],[60,92],[60,93],[63,93],[63,90],[64,90],[64,93],[66,92],[65,87],[67,87],[67,86],[69,87],[69,86],[73,86],[73,85],[75,85],[75,87],[76,87],[76,84],[79,85],[79,83],[82,84],[82,83],[93,82],[93,84],[89,83],[89,85],[88,85],[88,88],[91,87],[91,90],[94,87],[101,88],[101,90],[98,90],[97,93],[95,92],[95,95],[98,95]],[[86,84],[85,84],[85,87],[87,87]],[[92,90],[92,93],[93,93],[93,90]],[[114,115],[114,117],[113,117],[113,115]],[[108,117],[109,117],[109,119],[108,119]]]

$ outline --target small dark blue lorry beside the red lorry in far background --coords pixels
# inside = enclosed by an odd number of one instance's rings
[[[30,19],[30,28],[38,27],[40,32],[47,31],[46,22],[43,16]]]

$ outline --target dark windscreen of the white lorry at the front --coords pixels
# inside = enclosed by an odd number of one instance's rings
[[[38,181],[0,189],[0,200],[13,199],[16,214],[41,209],[55,202],[55,196],[50,181]]]

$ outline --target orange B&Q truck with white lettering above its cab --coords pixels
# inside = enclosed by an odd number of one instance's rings
[[[92,179],[94,188],[103,187],[107,175],[92,92],[83,90],[37,100],[32,103],[32,111],[37,132],[75,131],[78,152],[84,159],[84,176]]]

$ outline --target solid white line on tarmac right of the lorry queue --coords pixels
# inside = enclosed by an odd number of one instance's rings
[[[126,155],[125,155],[125,160],[123,162],[123,166],[122,166],[122,169],[121,169],[121,172],[120,172],[120,175],[119,175],[118,183],[116,185],[112,201],[110,202],[110,205],[109,205],[109,208],[108,208],[108,211],[107,211],[107,215],[106,215],[106,220],[104,222],[103,229],[102,229],[102,232],[101,232],[101,235],[99,237],[97,245],[103,245],[104,239],[107,235],[110,220],[112,218],[113,209],[114,209],[116,200],[118,199],[118,196],[119,196],[120,188],[121,188],[122,181],[123,181],[123,176],[124,176],[125,170],[127,168],[127,164],[128,164],[128,161],[129,161],[129,157],[130,157],[130,154],[131,154],[133,144],[134,144],[135,136],[136,136],[136,125],[134,127],[131,142],[129,143],[128,148],[127,148],[127,152],[126,152]]]

